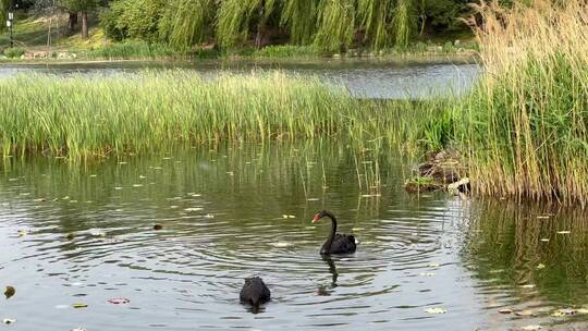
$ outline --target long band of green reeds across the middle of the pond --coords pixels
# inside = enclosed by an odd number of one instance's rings
[[[84,159],[220,140],[327,137],[358,148],[375,139],[396,146],[414,140],[426,118],[420,108],[433,109],[358,100],[316,78],[282,73],[215,79],[182,71],[22,75],[0,81],[0,148],[3,155]]]

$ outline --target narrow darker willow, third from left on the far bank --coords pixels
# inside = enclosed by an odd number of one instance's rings
[[[311,42],[317,26],[318,0],[284,0],[280,24],[290,29],[290,41]]]

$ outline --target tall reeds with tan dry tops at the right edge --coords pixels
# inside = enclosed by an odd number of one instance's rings
[[[498,196],[588,201],[588,7],[536,0],[478,8],[487,74],[456,127],[475,188]]]

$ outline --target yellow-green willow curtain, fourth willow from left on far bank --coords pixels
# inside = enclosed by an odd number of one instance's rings
[[[326,51],[344,51],[353,41],[354,0],[321,0],[315,45]]]

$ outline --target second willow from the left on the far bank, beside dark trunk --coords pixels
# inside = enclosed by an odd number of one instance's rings
[[[275,9],[275,0],[221,0],[217,19],[217,39],[223,47],[238,45],[247,39],[249,26],[257,22],[256,46],[268,19]]]

